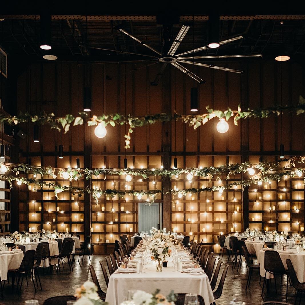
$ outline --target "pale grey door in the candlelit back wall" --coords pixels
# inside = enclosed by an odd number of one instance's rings
[[[158,228],[160,225],[159,203],[147,205],[139,203],[139,232],[149,231],[151,227]]]

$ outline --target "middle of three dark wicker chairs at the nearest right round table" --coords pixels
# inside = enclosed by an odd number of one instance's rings
[[[262,289],[261,296],[263,296],[263,292],[264,292],[264,286],[265,286],[265,282],[266,282],[266,274],[267,274],[267,272],[269,272],[269,273],[274,275],[275,292],[277,292],[275,276],[276,275],[281,275],[281,278],[282,278],[283,274],[287,275],[287,285],[286,285],[286,298],[287,298],[288,278],[289,278],[288,277],[288,272],[285,270],[285,267],[283,265],[281,257],[280,257],[280,255],[278,254],[277,251],[274,251],[274,250],[266,250],[265,251],[264,268],[265,268],[266,272],[265,272],[265,277],[264,277],[264,283],[263,283],[263,289]]]

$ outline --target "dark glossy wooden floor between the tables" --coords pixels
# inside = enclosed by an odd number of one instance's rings
[[[105,256],[102,255],[92,255],[91,264],[95,267],[95,271],[99,278],[100,285],[104,291],[106,291],[106,285],[103,279],[102,271],[99,266],[99,260],[105,260]],[[217,255],[218,259],[218,255]],[[226,263],[226,260],[223,260]],[[286,278],[283,277],[282,286],[278,288],[278,293],[275,293],[274,282],[272,282],[270,292],[264,292],[264,297],[262,298],[261,289],[262,283],[259,284],[259,273],[258,271],[253,272],[253,277],[251,281],[250,290],[245,291],[246,282],[247,282],[247,270],[245,263],[242,264],[242,268],[237,272],[233,269],[231,271],[232,263],[229,262],[230,267],[228,270],[227,278],[224,284],[224,290],[220,299],[216,300],[216,304],[227,305],[233,298],[237,298],[240,301],[244,301],[247,304],[261,304],[264,301],[285,301],[285,282]],[[83,282],[86,280],[91,281],[90,274],[88,273],[89,259],[86,258],[84,264],[76,263],[74,271],[70,273],[69,268],[65,266],[65,270],[61,274],[57,274],[56,271],[53,271],[53,274],[41,274],[42,282],[42,291],[37,290],[37,293],[34,293],[33,283],[29,280],[29,285],[26,285],[26,282],[23,283],[23,288],[21,290],[20,296],[16,292],[12,293],[11,285],[6,281],[4,289],[4,304],[23,304],[25,300],[28,299],[37,299],[40,304],[43,303],[45,299],[51,296],[64,295],[64,294],[74,294],[75,289],[80,287]],[[216,266],[216,264],[215,264]],[[222,273],[222,271],[221,271]],[[220,278],[220,276],[219,276]],[[277,283],[280,282],[280,279],[277,280]],[[218,285],[218,284],[217,284]],[[278,284],[279,285],[279,284]],[[217,287],[217,286],[216,286]],[[162,287],[160,287],[162,289]],[[162,292],[162,290],[161,290]],[[294,303],[295,289],[289,287],[288,289],[288,303]],[[1,303],[1,299],[0,299]],[[305,297],[302,301],[305,304]],[[113,305],[113,304],[109,304]]]

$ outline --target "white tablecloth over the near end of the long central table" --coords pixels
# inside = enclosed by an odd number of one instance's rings
[[[160,289],[160,293],[163,295],[168,295],[171,290],[174,290],[175,293],[196,293],[203,297],[206,305],[214,302],[213,292],[206,274],[190,275],[174,272],[170,261],[167,268],[162,268],[162,272],[156,272],[156,262],[149,262],[146,266],[146,273],[111,274],[106,302],[111,305],[122,303],[126,300],[130,289],[139,289],[150,293]]]

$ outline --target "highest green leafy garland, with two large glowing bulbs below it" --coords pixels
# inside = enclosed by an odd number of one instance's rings
[[[74,117],[72,114],[67,114],[64,117],[56,117],[54,113],[47,114],[41,113],[39,115],[31,115],[30,113],[19,113],[17,116],[10,116],[1,114],[0,122],[7,122],[11,125],[17,125],[20,123],[28,123],[33,122],[36,124],[49,124],[51,128],[55,128],[58,131],[61,131],[63,128],[64,132],[68,132],[71,124],[82,125],[84,120],[87,121],[88,126],[96,126],[101,122],[104,122],[105,127],[110,124],[111,126],[116,125],[124,125],[127,124],[129,126],[127,135],[125,137],[125,148],[130,148],[130,140],[131,133],[133,129],[136,127],[142,127],[145,125],[152,125],[156,122],[169,122],[171,120],[182,120],[184,123],[187,123],[189,126],[192,126],[194,129],[198,128],[201,125],[206,124],[209,120],[217,117],[218,119],[226,119],[227,121],[234,117],[234,124],[238,124],[238,120],[246,119],[249,117],[252,118],[267,118],[271,114],[280,115],[282,113],[291,113],[296,112],[297,115],[305,112],[305,99],[300,96],[299,104],[297,106],[294,105],[286,105],[286,106],[273,106],[268,108],[259,108],[259,109],[248,109],[246,111],[242,111],[240,106],[238,106],[237,110],[232,110],[228,107],[227,110],[217,110],[209,108],[206,106],[206,113],[196,114],[196,115],[181,115],[181,114],[154,114],[154,115],[146,115],[142,117],[134,117],[131,114],[124,116],[120,113],[114,114],[102,114],[101,116],[93,115],[91,118],[88,117],[88,113],[80,112],[79,116]]]

